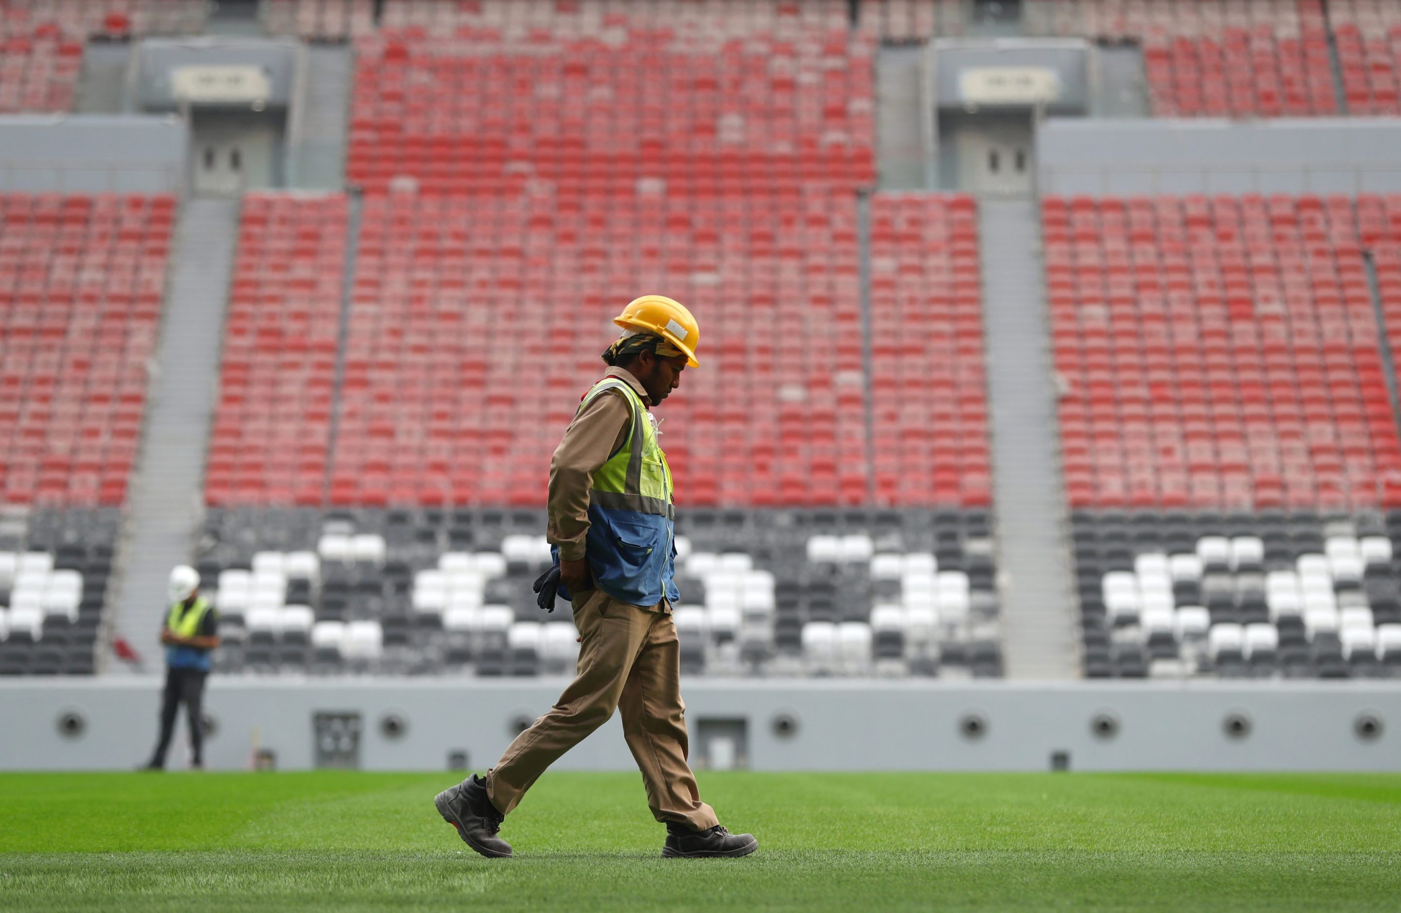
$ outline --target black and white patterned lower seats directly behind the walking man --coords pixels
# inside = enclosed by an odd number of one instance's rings
[[[219,668],[566,674],[565,602],[546,615],[530,585],[542,527],[535,510],[212,511]],[[984,511],[695,508],[678,531],[688,674],[1000,675]]]

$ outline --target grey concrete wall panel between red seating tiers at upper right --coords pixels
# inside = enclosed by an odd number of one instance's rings
[[[1049,119],[1042,193],[1360,193],[1401,190],[1401,120]]]

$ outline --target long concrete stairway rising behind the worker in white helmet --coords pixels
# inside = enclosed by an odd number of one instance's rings
[[[200,521],[237,241],[237,200],[185,202],[113,598],[116,630],[147,660],[158,657],[156,633],[167,609],[170,570],[189,562]]]

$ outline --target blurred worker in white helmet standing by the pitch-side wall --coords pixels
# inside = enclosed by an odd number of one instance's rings
[[[205,700],[205,679],[209,678],[210,654],[219,646],[219,618],[214,608],[199,595],[199,571],[188,564],[171,571],[170,601],[171,608],[161,626],[161,643],[165,644],[161,738],[146,769],[165,769],[165,752],[175,732],[175,714],[184,703],[189,720],[191,766],[200,770],[205,766],[200,707]]]

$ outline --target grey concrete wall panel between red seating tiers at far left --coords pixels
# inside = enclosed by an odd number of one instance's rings
[[[178,193],[188,144],[174,116],[4,116],[0,190]]]

